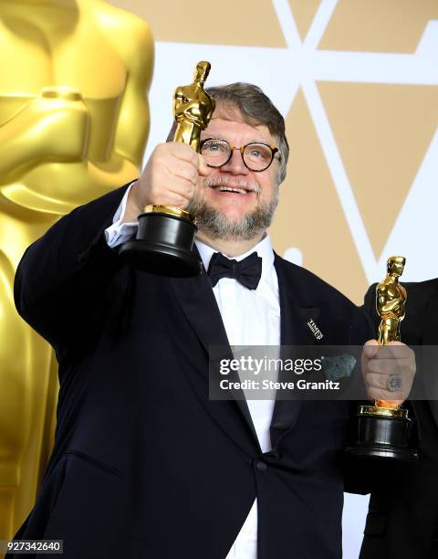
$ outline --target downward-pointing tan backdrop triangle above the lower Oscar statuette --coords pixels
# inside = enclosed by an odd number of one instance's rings
[[[379,259],[438,125],[438,87],[324,82],[318,90]]]

